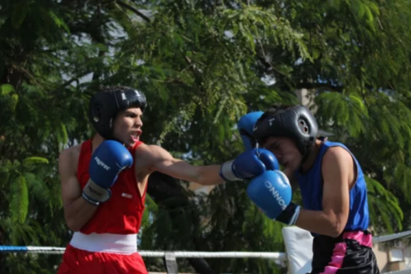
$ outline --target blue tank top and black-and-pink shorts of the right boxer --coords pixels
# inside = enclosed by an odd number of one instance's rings
[[[312,167],[306,173],[295,173],[303,206],[308,210],[323,210],[323,156],[329,147],[343,147],[338,142],[325,141],[321,144],[319,154]],[[349,153],[351,153],[349,151]],[[351,156],[356,164],[356,181],[349,190],[349,216],[343,233],[338,237],[314,234],[312,243],[312,271],[320,273],[350,273],[378,274],[377,260],[372,250],[372,236],[369,228],[369,208],[366,183],[358,161]],[[336,190],[338,191],[338,190]]]

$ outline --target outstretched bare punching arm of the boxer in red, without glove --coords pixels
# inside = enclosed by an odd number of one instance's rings
[[[148,166],[150,171],[159,171],[177,179],[195,182],[202,185],[222,184],[224,180],[220,177],[221,165],[193,166],[184,160],[173,158],[173,156],[162,147],[156,145],[140,145],[136,149],[136,165]]]

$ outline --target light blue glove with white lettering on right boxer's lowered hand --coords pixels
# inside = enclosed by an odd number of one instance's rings
[[[270,219],[286,225],[294,225],[297,221],[300,207],[291,202],[290,182],[282,171],[266,171],[254,178],[247,195]]]

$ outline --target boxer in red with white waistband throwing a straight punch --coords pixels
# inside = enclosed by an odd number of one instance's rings
[[[252,177],[273,166],[274,156],[264,151],[247,151],[212,166],[175,159],[162,147],[139,140],[145,107],[145,95],[133,88],[97,92],[88,115],[97,133],[60,153],[64,217],[74,234],[59,274],[147,274],[137,234],[153,171],[212,185]]]

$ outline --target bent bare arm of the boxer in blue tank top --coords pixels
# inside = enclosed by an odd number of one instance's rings
[[[349,177],[353,174],[351,154],[341,147],[330,148],[324,155],[322,169],[323,210],[301,209],[295,225],[336,237],[343,232],[349,215]]]

